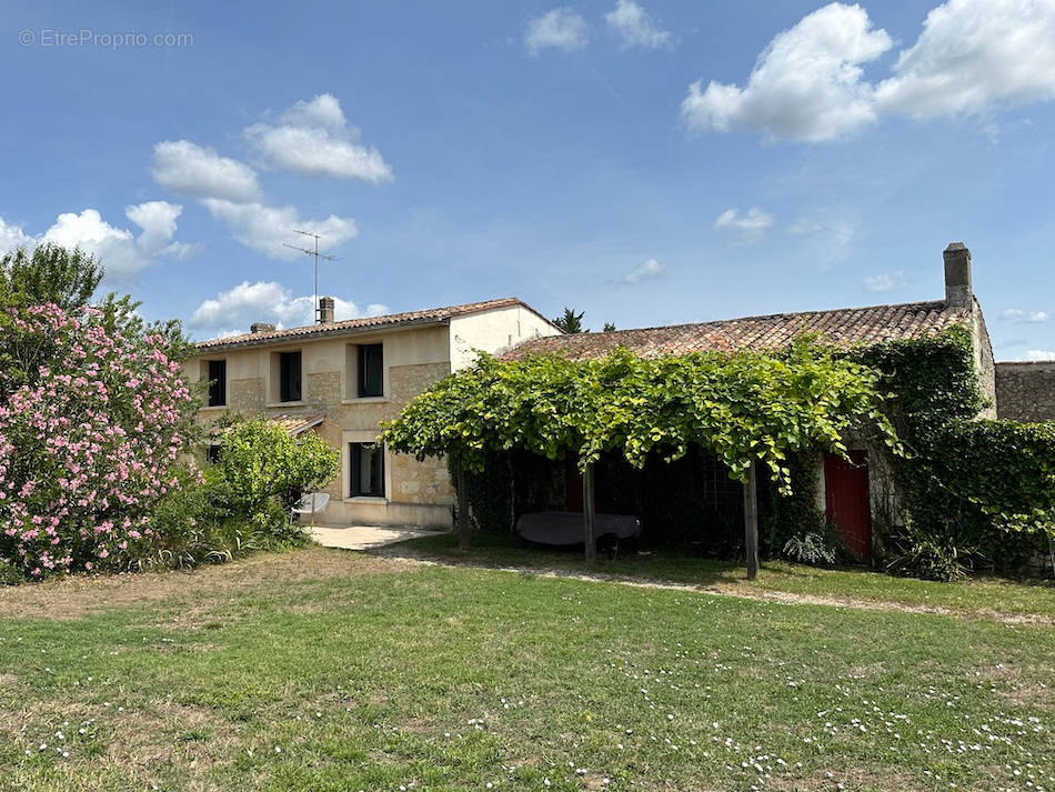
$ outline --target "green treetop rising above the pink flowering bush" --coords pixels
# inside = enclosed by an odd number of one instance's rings
[[[102,264],[79,249],[40,244],[27,254],[18,248],[0,258],[0,305],[51,303],[73,311],[89,303],[102,274]]]

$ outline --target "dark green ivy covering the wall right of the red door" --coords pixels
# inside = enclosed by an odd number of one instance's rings
[[[1002,571],[1043,550],[1055,535],[1055,423],[973,420],[986,400],[969,331],[851,354],[892,397],[885,409],[907,449],[891,460],[902,521]]]

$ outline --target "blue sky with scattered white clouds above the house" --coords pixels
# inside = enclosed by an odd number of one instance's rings
[[[0,247],[79,243],[199,338],[304,322],[294,228],[341,315],[516,294],[594,329],[937,299],[962,240],[997,358],[1055,357],[1055,0],[0,20]]]

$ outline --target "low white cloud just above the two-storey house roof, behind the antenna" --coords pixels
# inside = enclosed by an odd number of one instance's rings
[[[333,299],[334,319],[375,317],[388,312],[388,307],[371,303],[363,312],[354,302]],[[253,322],[272,322],[279,328],[303,327],[314,322],[314,305],[311,295],[293,297],[293,293],[274,281],[242,281],[233,289],[204,300],[191,315],[188,325],[198,331],[211,331],[213,338],[223,338],[249,332]],[[241,327],[241,330],[231,330]]]

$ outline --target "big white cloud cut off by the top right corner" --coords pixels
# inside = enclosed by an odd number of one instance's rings
[[[1055,97],[1055,2],[949,0],[876,87],[878,104],[918,119]]]

